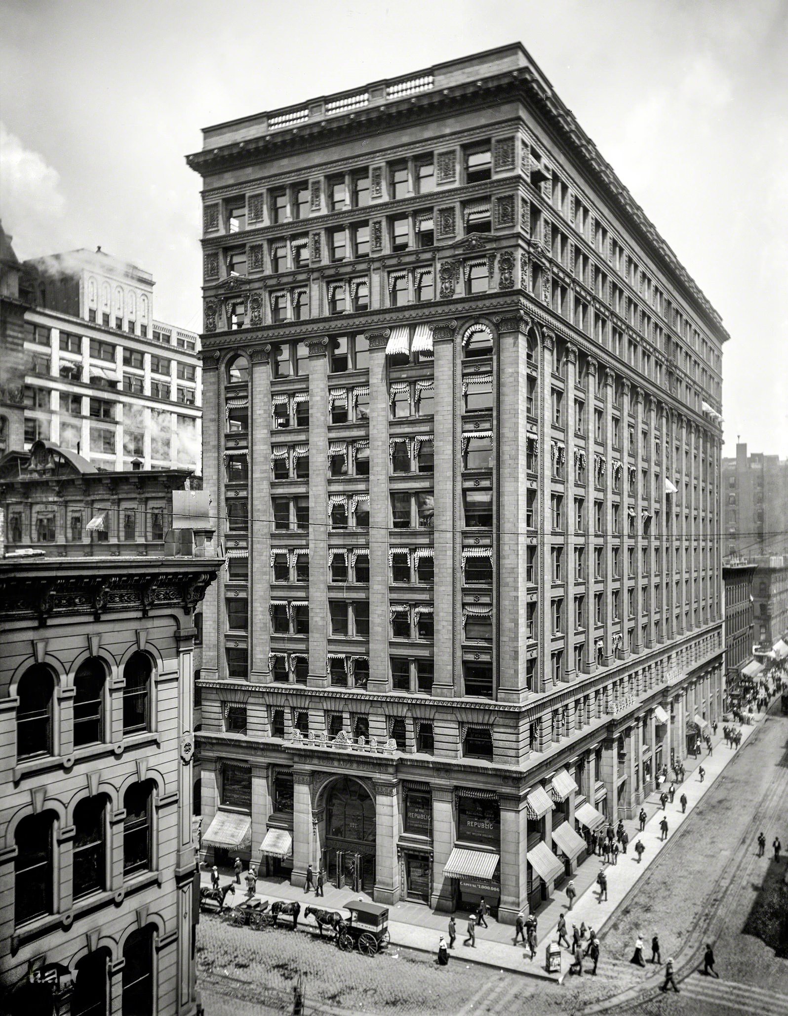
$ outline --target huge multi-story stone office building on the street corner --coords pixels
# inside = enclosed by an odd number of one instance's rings
[[[513,922],[719,715],[727,334],[519,45],[188,161],[206,858]]]

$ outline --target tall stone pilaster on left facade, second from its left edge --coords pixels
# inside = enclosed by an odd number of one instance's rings
[[[271,374],[270,346],[252,350],[249,392],[249,666],[257,683],[270,679],[271,647]]]

